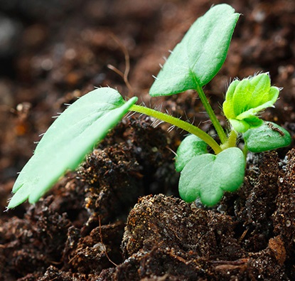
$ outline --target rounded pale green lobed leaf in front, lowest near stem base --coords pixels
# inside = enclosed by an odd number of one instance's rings
[[[244,181],[245,157],[240,149],[231,147],[218,155],[203,154],[191,159],[181,171],[179,193],[186,202],[196,198],[214,206],[225,191],[236,191]]]

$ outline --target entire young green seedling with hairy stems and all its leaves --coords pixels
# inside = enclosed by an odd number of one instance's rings
[[[271,86],[267,73],[232,81],[223,103],[223,112],[229,121],[226,132],[205,97],[203,86],[224,63],[239,16],[232,7],[220,4],[198,18],[171,51],[150,90],[153,97],[195,90],[220,144],[193,124],[135,105],[137,97],[125,101],[117,90],[97,88],[70,105],[44,134],[33,157],[16,179],[8,208],[26,199],[30,203],[38,201],[65,171],[76,169],[95,144],[129,111],[155,117],[190,133],[183,139],[176,157],[176,170],[181,172],[179,193],[183,200],[192,202],[200,198],[205,205],[213,206],[225,191],[236,191],[244,180],[248,150],[265,152],[291,142],[285,129],[257,116],[272,107],[279,96],[279,88]],[[237,147],[238,136],[245,141],[243,151]]]

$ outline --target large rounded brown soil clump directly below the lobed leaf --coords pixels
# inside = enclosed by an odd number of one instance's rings
[[[193,251],[203,258],[214,255],[225,259],[227,250],[230,255],[240,250],[232,236],[230,216],[192,209],[178,198],[149,196],[141,198],[129,213],[122,249],[128,257],[139,249],[151,250],[161,241],[161,248],[173,245],[176,252]]]

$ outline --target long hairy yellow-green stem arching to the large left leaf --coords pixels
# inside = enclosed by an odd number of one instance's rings
[[[190,132],[191,134],[195,134],[197,137],[200,137],[200,139],[203,139],[203,141],[206,144],[208,144],[210,147],[212,147],[215,154],[222,152],[221,147],[218,145],[217,142],[215,142],[213,137],[210,137],[209,134],[203,132],[200,128],[195,127],[188,122],[185,122],[183,120],[179,120],[178,118],[168,115],[166,113],[159,112],[157,110],[152,110],[149,107],[143,107],[141,105],[132,105],[132,107],[129,109],[129,111],[143,113],[145,115],[149,115],[151,117],[155,117],[156,119],[163,120],[167,123],[173,124],[176,127],[184,129],[185,131]]]

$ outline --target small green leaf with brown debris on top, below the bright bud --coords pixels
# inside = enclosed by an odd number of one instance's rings
[[[267,152],[291,144],[289,132],[272,122],[264,122],[256,129],[249,129],[243,138],[250,152]]]

